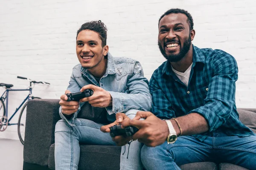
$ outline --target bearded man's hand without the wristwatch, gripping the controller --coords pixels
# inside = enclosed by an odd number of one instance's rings
[[[116,113],[116,121],[111,123],[111,124],[108,124],[108,125],[105,125],[105,126],[102,126],[100,128],[100,130],[102,132],[110,132],[110,127],[114,126],[114,125],[120,125],[124,120],[131,120],[130,118],[128,118],[124,113]],[[124,127],[122,127],[124,128]],[[114,142],[116,142],[116,145],[117,146],[123,146],[125,144],[127,144],[129,141],[131,141],[131,136],[115,136],[112,138],[112,140]]]

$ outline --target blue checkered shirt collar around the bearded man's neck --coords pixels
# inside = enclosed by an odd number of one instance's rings
[[[193,64],[192,64],[192,68],[195,67],[195,64],[197,62],[203,62],[205,63],[205,56],[203,54],[203,52],[201,51],[200,48],[192,45],[193,47]],[[170,62],[168,62],[168,60],[164,63],[163,65],[163,71],[162,74],[166,74],[168,76],[170,76],[172,73],[172,65]]]

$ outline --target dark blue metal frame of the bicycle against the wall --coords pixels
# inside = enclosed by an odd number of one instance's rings
[[[17,125],[17,123],[13,123],[10,124],[9,122],[12,120],[13,116],[15,116],[15,114],[17,113],[17,111],[21,108],[21,106],[26,102],[26,100],[30,100],[31,96],[32,96],[32,86],[31,86],[31,82],[30,82],[30,86],[29,89],[9,89],[6,88],[6,91],[3,92],[3,95],[0,97],[0,99],[3,99],[3,102],[6,100],[6,117],[8,117],[8,98],[9,98],[9,91],[29,91],[29,95],[26,96],[26,98],[23,100],[23,102],[20,104],[20,106],[18,108],[16,108],[16,111],[12,114],[12,116],[10,117],[10,119],[8,119],[8,125]],[[4,94],[6,94],[6,97],[3,98]]]

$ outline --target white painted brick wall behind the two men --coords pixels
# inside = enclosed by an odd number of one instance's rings
[[[222,49],[236,58],[237,107],[256,108],[255,0],[0,0],[0,82],[15,88],[28,86],[17,76],[50,82],[36,85],[33,94],[58,99],[78,63],[76,31],[90,20],[107,26],[113,56],[138,59],[150,79],[165,61],[157,46],[158,19],[176,7],[194,18],[194,45]],[[25,96],[10,93],[9,116]],[[18,114],[12,121],[17,119]],[[18,139],[17,126],[0,132],[0,138]]]

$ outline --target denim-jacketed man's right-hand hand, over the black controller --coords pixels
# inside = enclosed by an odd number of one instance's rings
[[[81,92],[86,89],[93,90],[93,95],[85,97],[80,100],[80,102],[89,102],[93,107],[106,108],[112,105],[112,96],[108,91],[96,85],[85,85],[81,88]]]

